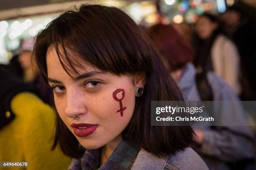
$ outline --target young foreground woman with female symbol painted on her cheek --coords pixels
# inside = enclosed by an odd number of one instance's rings
[[[151,101],[182,95],[121,10],[68,11],[38,34],[34,53],[54,91],[55,145],[74,158],[70,170],[207,169],[187,148],[191,127],[151,126]]]

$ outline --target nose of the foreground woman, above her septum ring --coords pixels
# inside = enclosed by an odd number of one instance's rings
[[[67,92],[66,115],[74,118],[76,115],[85,114],[87,112],[85,103],[86,101],[83,92],[74,90],[72,92]]]

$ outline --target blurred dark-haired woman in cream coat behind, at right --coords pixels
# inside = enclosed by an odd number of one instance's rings
[[[208,13],[200,16],[195,27],[195,59],[197,72],[214,71],[241,94],[240,57],[236,46],[221,34],[218,19]]]

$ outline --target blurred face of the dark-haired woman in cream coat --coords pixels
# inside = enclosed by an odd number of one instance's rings
[[[196,32],[202,39],[207,39],[218,28],[218,23],[212,23],[207,17],[200,17],[197,21]]]

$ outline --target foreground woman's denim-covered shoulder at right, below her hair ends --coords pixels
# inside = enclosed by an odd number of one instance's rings
[[[202,158],[192,149],[185,148],[175,155],[169,155],[166,170],[208,170]]]

